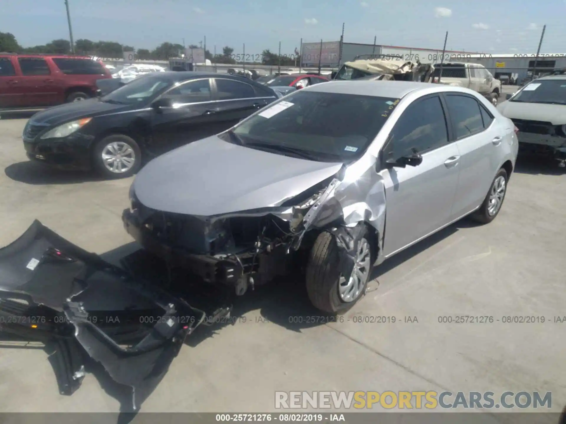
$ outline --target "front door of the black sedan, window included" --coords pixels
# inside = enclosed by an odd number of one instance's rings
[[[215,134],[214,103],[208,77],[183,81],[162,93],[152,103],[152,153]]]

